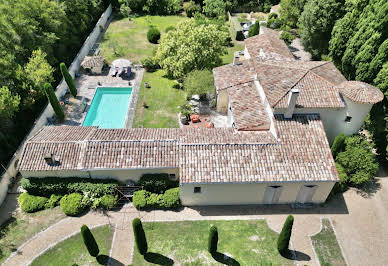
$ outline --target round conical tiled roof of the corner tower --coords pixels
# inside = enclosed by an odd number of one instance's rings
[[[384,94],[376,87],[361,81],[345,81],[339,91],[356,103],[375,104],[384,99]]]

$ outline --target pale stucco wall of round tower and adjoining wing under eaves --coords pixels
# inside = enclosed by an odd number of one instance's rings
[[[344,133],[357,133],[363,125],[372,104],[359,104],[344,97],[345,108],[295,108],[294,114],[319,114],[325,127],[326,136],[331,144],[335,137]],[[276,109],[275,114],[282,114],[286,109]],[[350,122],[345,122],[346,116],[351,116]]]

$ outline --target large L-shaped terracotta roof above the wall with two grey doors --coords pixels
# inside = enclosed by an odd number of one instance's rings
[[[277,144],[181,144],[181,183],[338,181],[318,115],[277,115],[276,125]]]

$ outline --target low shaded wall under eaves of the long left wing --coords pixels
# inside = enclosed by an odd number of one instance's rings
[[[116,179],[125,183],[127,180],[139,181],[144,174],[175,174],[179,178],[178,168],[160,168],[160,169],[111,169],[111,170],[92,170],[92,171],[20,171],[23,177],[83,177],[96,179]]]

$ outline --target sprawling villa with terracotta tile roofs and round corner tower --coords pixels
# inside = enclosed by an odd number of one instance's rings
[[[30,138],[24,177],[180,180],[183,205],[322,203],[338,181],[329,143],[359,130],[376,88],[347,81],[331,62],[294,59],[261,28],[234,63],[213,70],[226,128],[45,127]]]

